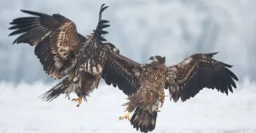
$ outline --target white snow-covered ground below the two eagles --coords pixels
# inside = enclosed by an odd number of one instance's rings
[[[242,80],[242,79],[241,79]],[[0,84],[0,133],[135,133],[126,120],[125,95],[101,84],[80,108],[64,96],[52,103],[39,96],[51,86]],[[166,99],[154,132],[256,132],[256,84],[242,80],[229,97],[203,90],[186,103]],[[72,97],[76,97],[72,95]]]

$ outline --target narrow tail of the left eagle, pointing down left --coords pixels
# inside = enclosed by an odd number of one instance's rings
[[[67,77],[68,78],[68,77]],[[69,98],[69,94],[78,87],[77,83],[67,83],[67,78],[62,80],[60,83],[52,87],[49,91],[44,92],[40,97],[43,101],[51,102],[61,94],[66,93]]]

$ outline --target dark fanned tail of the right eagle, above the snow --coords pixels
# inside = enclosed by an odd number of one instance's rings
[[[131,125],[141,132],[147,133],[155,128],[157,117],[157,111],[150,112],[143,108],[136,108],[134,114],[131,117]]]

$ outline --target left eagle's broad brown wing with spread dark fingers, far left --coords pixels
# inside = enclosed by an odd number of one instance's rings
[[[28,43],[35,47],[35,54],[44,66],[44,71],[53,78],[65,76],[77,49],[86,37],[77,32],[76,25],[61,14],[43,14],[21,10],[34,16],[13,19],[9,36],[18,36],[14,43]]]

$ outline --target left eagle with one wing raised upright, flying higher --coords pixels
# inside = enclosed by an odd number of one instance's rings
[[[62,93],[66,93],[67,97],[75,91],[79,98],[73,99],[78,101],[78,107],[84,101],[89,93],[97,88],[101,76],[92,75],[85,70],[78,73],[74,68],[78,63],[78,58],[82,56],[84,48],[89,49],[91,45],[102,45],[101,51],[93,51],[92,53],[101,54],[104,58],[107,51],[109,53],[119,53],[119,49],[112,43],[105,43],[107,40],[103,35],[108,34],[108,20],[102,19],[102,12],[108,8],[102,4],[99,21],[96,30],[93,30],[89,36],[82,36],[77,31],[76,25],[72,20],[67,19],[61,14],[43,14],[34,11],[21,10],[26,14],[33,16],[21,17],[13,19],[10,25],[13,25],[9,30],[15,30],[9,36],[18,36],[15,43],[28,43],[35,46],[35,54],[43,65],[46,74],[54,79],[64,78],[59,84],[54,86],[49,91],[46,91],[42,96],[45,101],[52,101],[59,97]],[[84,56],[84,55],[83,55]],[[79,68],[82,69],[82,68]],[[92,68],[90,68],[92,69]]]

